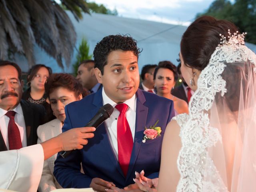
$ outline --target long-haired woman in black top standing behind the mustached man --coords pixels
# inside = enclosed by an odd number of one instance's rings
[[[55,118],[52,114],[50,104],[46,102],[44,83],[52,74],[52,69],[43,64],[36,64],[30,68],[27,75],[27,84],[29,88],[22,94],[22,99],[32,103],[41,104],[46,109],[45,122]]]

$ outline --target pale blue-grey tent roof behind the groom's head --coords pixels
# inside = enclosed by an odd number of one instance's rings
[[[122,18],[106,14],[83,14],[83,19],[77,22],[70,12],[67,12],[67,14],[70,16],[76,30],[76,48],[78,48],[82,38],[86,38],[90,46],[90,54],[92,54],[96,43],[105,36],[130,34],[138,41],[138,47],[143,49],[138,61],[140,70],[145,64],[158,64],[161,60],[170,60],[174,64],[178,64],[176,59],[180,51],[182,34],[186,30],[185,26]],[[256,52],[256,45],[247,44],[247,46]],[[35,46],[34,52],[36,63],[51,67],[55,73],[72,73],[72,64],[76,61],[76,48],[74,49],[70,66],[68,68],[65,66],[64,70],[58,66],[54,58],[48,56],[38,46]],[[22,71],[28,71],[26,58],[16,56],[15,62],[19,64]]]

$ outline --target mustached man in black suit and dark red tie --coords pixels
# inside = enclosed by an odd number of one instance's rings
[[[37,143],[44,107],[21,100],[23,81],[16,63],[0,61],[0,151]]]

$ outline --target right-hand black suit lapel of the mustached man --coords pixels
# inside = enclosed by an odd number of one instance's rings
[[[33,144],[34,114],[30,107],[29,102],[24,102],[23,100],[21,100],[20,104],[22,107],[22,112],[23,112],[25,126],[26,126],[27,146],[30,146]]]

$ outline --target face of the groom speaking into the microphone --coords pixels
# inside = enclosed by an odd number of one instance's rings
[[[95,70],[98,82],[102,83],[106,95],[116,103],[122,103],[136,93],[140,74],[138,58],[132,51],[115,50],[109,53],[104,74]]]

